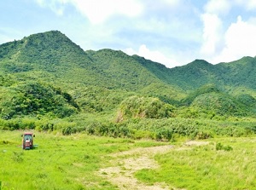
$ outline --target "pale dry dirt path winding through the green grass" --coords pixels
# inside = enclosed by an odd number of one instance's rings
[[[156,153],[166,153],[172,146],[137,148],[122,153],[114,153],[113,167],[99,170],[99,176],[107,178],[119,189],[132,190],[166,190],[169,189],[165,183],[158,183],[148,186],[137,181],[133,176],[137,170],[157,169],[159,165],[154,161]]]

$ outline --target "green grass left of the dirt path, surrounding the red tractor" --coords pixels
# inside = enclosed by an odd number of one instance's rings
[[[0,181],[4,189],[116,189],[96,176],[108,154],[160,144],[75,134],[35,132],[38,147],[21,148],[22,131],[0,131]]]

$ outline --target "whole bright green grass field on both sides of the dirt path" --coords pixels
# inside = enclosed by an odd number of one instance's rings
[[[125,174],[128,169],[124,160],[131,161],[131,158],[140,156],[154,158],[159,164],[154,168],[138,167],[134,173],[129,169],[132,176],[147,187],[156,183],[165,183],[170,189],[188,190],[256,187],[255,137],[216,138],[202,141],[201,146],[179,141],[172,144],[168,151],[150,156],[150,150],[154,150],[151,147],[171,143],[84,134],[63,136],[36,131],[34,143],[38,147],[24,151],[21,148],[21,134],[22,131],[0,131],[2,190],[119,189],[119,184],[110,179],[116,176],[109,176],[105,171],[103,175],[98,175],[99,171],[117,165],[122,169],[120,174]],[[217,143],[221,145],[218,150]],[[132,152],[148,147],[151,148],[149,152]],[[117,153],[127,154],[113,156]],[[129,186],[126,189],[130,189]]]

